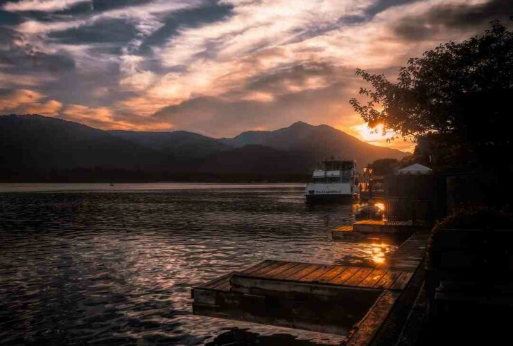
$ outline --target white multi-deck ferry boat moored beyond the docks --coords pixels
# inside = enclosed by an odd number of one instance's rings
[[[314,170],[306,184],[306,201],[344,201],[358,199],[358,174],[354,160],[326,160],[322,170]]]

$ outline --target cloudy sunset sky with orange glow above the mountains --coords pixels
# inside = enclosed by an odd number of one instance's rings
[[[302,120],[410,150],[351,108],[355,69],[394,79],[511,15],[511,0],[0,0],[0,114],[216,138]]]

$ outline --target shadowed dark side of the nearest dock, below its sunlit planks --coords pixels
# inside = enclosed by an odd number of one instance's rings
[[[234,273],[231,291],[193,290],[193,313],[347,335],[381,294]],[[357,299],[355,299],[357,295]]]

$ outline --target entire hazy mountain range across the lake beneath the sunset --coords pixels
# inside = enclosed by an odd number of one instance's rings
[[[293,181],[329,156],[362,167],[399,150],[327,125],[211,138],[188,131],[105,131],[38,115],[0,116],[1,181]]]

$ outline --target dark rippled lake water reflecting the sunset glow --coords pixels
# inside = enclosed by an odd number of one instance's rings
[[[0,343],[340,343],[193,316],[190,291],[266,259],[369,260],[331,241],[353,208],[308,206],[302,184],[0,184]]]

